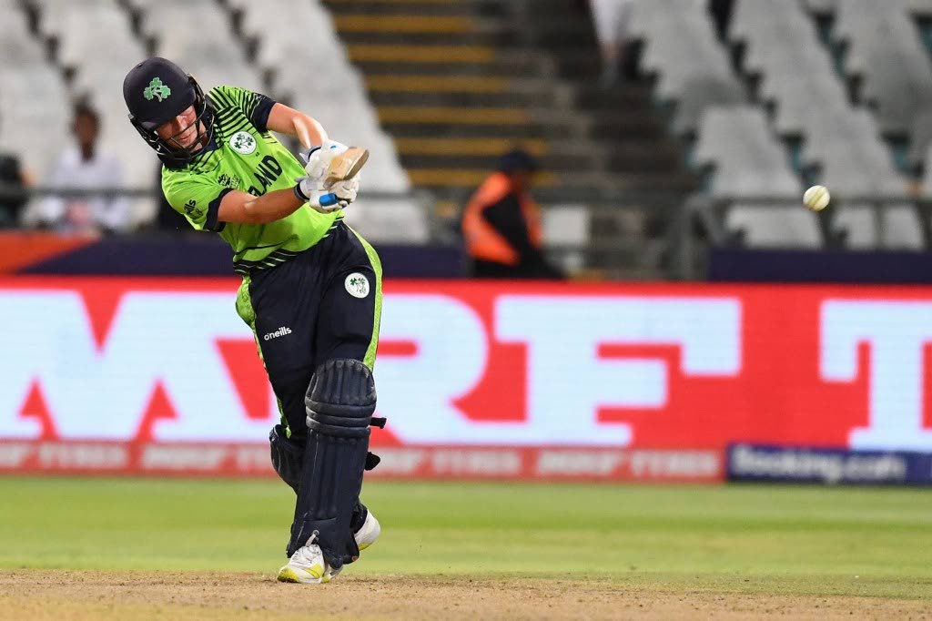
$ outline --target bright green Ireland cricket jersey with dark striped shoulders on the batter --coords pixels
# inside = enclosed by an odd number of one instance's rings
[[[236,87],[212,89],[213,140],[190,163],[162,167],[162,191],[171,207],[198,230],[212,230],[233,246],[233,268],[242,275],[274,268],[327,234],[343,212],[321,214],[308,205],[262,225],[218,222],[220,201],[231,190],[262,196],[291,188],[304,167],[267,130],[275,104],[265,95]]]

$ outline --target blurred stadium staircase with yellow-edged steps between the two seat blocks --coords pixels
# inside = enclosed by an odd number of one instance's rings
[[[434,192],[442,216],[459,212],[502,152],[524,145],[543,165],[541,202],[591,209],[590,268],[659,275],[663,222],[634,203],[659,190],[678,205],[695,177],[649,84],[597,88],[585,10],[557,0],[324,4],[412,183]]]

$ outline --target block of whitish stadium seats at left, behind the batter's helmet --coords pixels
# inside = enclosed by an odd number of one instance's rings
[[[24,8],[34,11],[37,33],[30,32]],[[239,30],[233,20],[238,12]],[[282,15],[291,26],[285,30]],[[205,90],[233,84],[266,92],[319,117],[334,138],[368,146],[365,190],[410,189],[394,143],[379,128],[333,21],[314,0],[0,0],[0,21],[5,61],[0,68],[0,148],[19,154],[38,180],[70,133],[72,102],[84,99],[101,114],[101,141],[123,162],[125,186],[155,184],[158,161],[126,122],[122,96],[126,71],[145,58],[151,43],[152,51],[185,67]],[[50,57],[43,48],[47,40],[56,43]],[[258,43],[255,60],[247,53],[252,41]],[[270,71],[280,67],[284,70]],[[267,75],[271,82],[264,79]],[[24,102],[29,115],[22,114]],[[390,202],[388,212],[399,220],[382,238],[426,239],[421,209],[410,200]],[[154,201],[138,200],[134,219],[144,223],[154,210]],[[376,239],[379,232],[374,231]]]

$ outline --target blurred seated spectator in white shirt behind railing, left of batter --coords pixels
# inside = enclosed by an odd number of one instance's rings
[[[48,175],[51,189],[97,189],[122,186],[119,160],[98,145],[100,117],[87,104],[75,106],[75,143],[62,151]],[[100,234],[130,225],[127,200],[121,197],[50,196],[38,209],[39,220],[62,233]]]

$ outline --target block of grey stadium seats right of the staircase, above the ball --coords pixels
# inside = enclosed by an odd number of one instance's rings
[[[932,3],[776,4],[735,0],[724,45],[708,22],[705,3],[637,4],[636,31],[646,44],[642,70],[657,75],[658,99],[677,104],[681,116],[674,117],[672,131],[689,135],[690,119],[701,119],[694,160],[715,170],[709,188],[713,197],[735,200],[726,225],[743,229],[750,245],[816,246],[821,240],[811,214],[790,208],[791,202],[781,210],[775,205],[749,208],[740,200],[768,194],[798,200],[803,181],[817,180],[832,188],[837,199],[832,231],[843,232],[850,247],[922,247],[919,216],[909,203],[878,210],[870,197],[910,196],[884,133],[912,134],[910,156],[916,167],[932,140],[927,114],[932,66],[910,21],[911,14],[925,14]],[[834,48],[820,40],[812,13],[834,17],[832,41],[848,48],[844,75],[837,73]],[[728,48],[740,52],[737,74],[727,62]],[[698,76],[692,89],[682,88],[687,72]],[[758,102],[756,111],[733,105],[745,101],[732,86],[738,76],[756,86],[749,93]],[[856,76],[870,108],[855,106],[849,98],[847,81]]]

